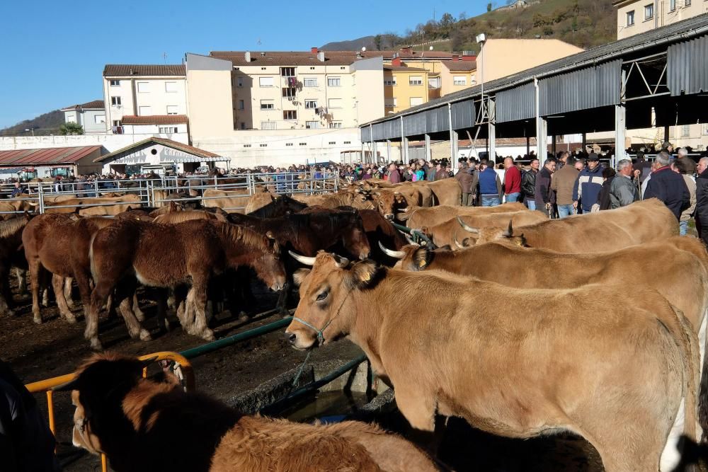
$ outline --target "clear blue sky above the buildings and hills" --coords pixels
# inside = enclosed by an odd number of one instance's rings
[[[185,52],[304,51],[377,33],[402,34],[481,0],[2,1],[0,129],[103,98],[105,64],[180,64]],[[260,40],[260,45],[258,41]],[[164,57],[166,54],[166,59]]]

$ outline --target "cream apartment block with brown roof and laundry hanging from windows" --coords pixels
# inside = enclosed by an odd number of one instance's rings
[[[341,129],[384,113],[381,57],[360,53],[213,51],[233,65],[234,129]]]

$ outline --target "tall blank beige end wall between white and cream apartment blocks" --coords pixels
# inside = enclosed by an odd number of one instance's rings
[[[232,63],[188,53],[186,68],[192,139],[231,134],[234,131]]]

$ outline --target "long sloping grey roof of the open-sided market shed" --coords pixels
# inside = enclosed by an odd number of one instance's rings
[[[687,35],[695,35],[697,33],[702,34],[706,30],[708,30],[708,13],[703,13],[700,16],[688,18],[687,20],[679,21],[678,23],[663,26],[662,28],[656,28],[655,30],[647,31],[646,33],[634,35],[629,38],[624,38],[623,40],[610,42],[606,45],[593,47],[590,50],[578,52],[578,54],[563,57],[553,62],[521,71],[518,74],[513,74],[495,81],[487,82],[484,84],[484,93],[493,93],[506,88],[518,86],[520,84],[532,81],[535,76],[551,76],[554,74],[559,74],[564,70],[581,69],[582,67],[595,65],[599,62],[605,62],[613,59],[624,52],[629,52],[630,50],[638,51],[649,49],[662,42],[681,42],[682,40],[685,40]],[[400,115],[413,115],[421,112],[422,110],[428,110],[440,105],[445,105],[448,102],[464,100],[465,98],[479,95],[481,95],[481,85],[476,85],[465,88],[462,91],[450,93],[449,95],[441,98],[436,98],[435,100],[430,100],[427,103],[423,103],[423,105],[408,108],[404,111],[396,113],[395,115],[381,117],[378,120],[373,120],[372,123],[395,120]],[[361,127],[367,125],[368,123],[361,125]]]

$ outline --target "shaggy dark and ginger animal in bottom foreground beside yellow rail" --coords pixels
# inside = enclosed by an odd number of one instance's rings
[[[374,425],[246,416],[202,393],[185,393],[172,374],[166,381],[143,379],[149,362],[96,355],[55,388],[72,390],[74,445],[103,452],[116,472],[437,470],[413,444]],[[171,451],[176,437],[188,452]]]

